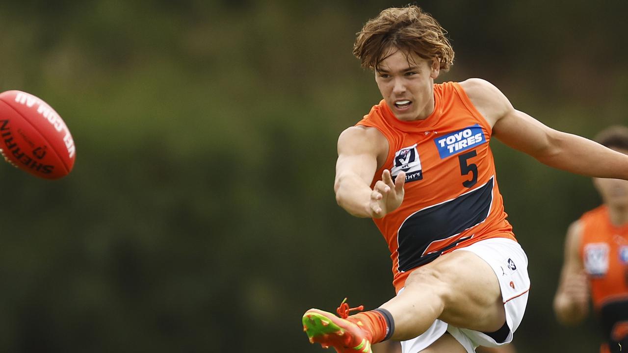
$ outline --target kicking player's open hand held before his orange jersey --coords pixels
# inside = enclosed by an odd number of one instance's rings
[[[403,202],[403,185],[406,183],[406,173],[401,171],[395,181],[389,170],[384,170],[382,180],[375,183],[369,201],[371,217],[382,218],[385,215],[398,209]]]

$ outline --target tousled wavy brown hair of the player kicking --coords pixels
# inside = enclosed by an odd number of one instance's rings
[[[376,69],[396,48],[426,60],[436,59],[440,70],[447,71],[454,53],[445,34],[438,21],[418,6],[389,8],[356,33],[353,53],[362,67]]]

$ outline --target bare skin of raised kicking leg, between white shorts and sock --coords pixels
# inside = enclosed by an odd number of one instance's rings
[[[381,308],[391,313],[391,339],[425,332],[438,318],[456,327],[494,332],[506,322],[493,269],[469,251],[454,251],[409,274],[403,291]]]

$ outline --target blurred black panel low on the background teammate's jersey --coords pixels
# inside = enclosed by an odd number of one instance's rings
[[[599,317],[604,339],[609,344],[610,352],[625,352],[626,347],[628,347],[628,335],[624,329],[625,322],[628,321],[628,301],[617,300],[605,303],[600,309]],[[615,327],[615,324],[622,325],[622,322],[624,322],[624,327]],[[619,337],[613,337],[614,329]]]

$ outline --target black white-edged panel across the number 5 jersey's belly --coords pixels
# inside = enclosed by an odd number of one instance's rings
[[[468,239],[459,239],[434,253],[421,256],[431,242],[460,234],[485,220],[489,216],[492,200],[493,178],[490,178],[489,182],[472,192],[410,215],[399,227],[399,271],[430,263],[443,251]]]

